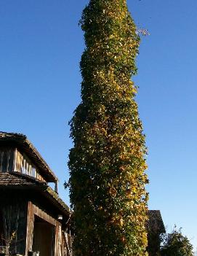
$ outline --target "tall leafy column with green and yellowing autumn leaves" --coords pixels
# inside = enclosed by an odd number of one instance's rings
[[[75,255],[145,255],[145,136],[130,79],[140,38],[126,0],[90,0],[81,28],[81,104],[68,163]]]

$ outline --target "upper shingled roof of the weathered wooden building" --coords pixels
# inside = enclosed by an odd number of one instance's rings
[[[36,150],[31,141],[27,139],[27,136],[21,133],[6,133],[0,131],[0,144],[9,144],[10,146],[16,146],[20,150],[23,150],[23,152],[25,152],[26,155],[28,155],[28,157],[40,168],[41,173],[47,177],[48,182],[58,181],[57,177],[41,157],[40,153]]]

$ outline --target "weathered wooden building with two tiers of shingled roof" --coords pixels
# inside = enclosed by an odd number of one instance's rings
[[[0,255],[72,255],[71,210],[57,183],[26,136],[0,132]]]

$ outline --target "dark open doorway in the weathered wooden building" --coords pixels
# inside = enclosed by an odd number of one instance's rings
[[[40,256],[54,255],[55,226],[35,216],[33,230],[33,252]]]

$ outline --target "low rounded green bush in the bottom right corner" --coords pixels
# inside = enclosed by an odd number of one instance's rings
[[[181,229],[165,234],[161,247],[161,256],[193,256],[193,246],[187,236],[183,236]]]

